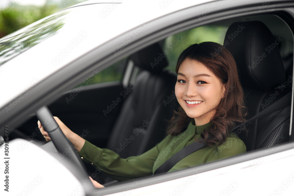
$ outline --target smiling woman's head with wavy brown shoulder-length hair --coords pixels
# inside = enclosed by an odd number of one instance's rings
[[[218,43],[194,44],[181,53],[176,73],[175,92],[181,106],[168,133],[179,134],[194,118],[196,126],[213,123],[201,133],[203,142],[224,143],[236,123],[246,121],[247,114],[233,56]]]

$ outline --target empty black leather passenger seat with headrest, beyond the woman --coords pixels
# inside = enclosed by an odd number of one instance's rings
[[[140,155],[160,142],[166,133],[166,119],[172,117],[177,104],[176,75],[163,71],[168,61],[157,43],[130,58],[142,71],[123,104],[107,146],[121,158]]]

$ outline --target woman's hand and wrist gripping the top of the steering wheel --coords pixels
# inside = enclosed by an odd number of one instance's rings
[[[76,150],[80,152],[83,145],[85,144],[85,140],[81,138],[79,135],[77,135],[76,133],[74,133],[72,130],[70,130],[58,117],[53,116],[53,118],[55,119],[56,123],[59,125],[59,128],[64,133],[65,137],[69,138],[69,140],[74,145]],[[49,137],[48,133],[44,130],[39,120],[38,120],[38,127],[41,131],[41,134],[46,139],[46,141],[51,141],[51,138]]]

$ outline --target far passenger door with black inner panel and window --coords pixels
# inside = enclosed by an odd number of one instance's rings
[[[81,84],[48,106],[52,114],[78,135],[87,136],[91,143],[105,147],[128,95],[123,86],[123,80],[128,81],[130,77],[130,74],[124,75],[128,63],[127,58],[123,58],[101,72],[94,69]],[[25,139],[44,141],[41,134],[33,134],[35,130],[31,129],[36,127],[37,130],[37,121],[36,117],[31,118],[17,133]]]

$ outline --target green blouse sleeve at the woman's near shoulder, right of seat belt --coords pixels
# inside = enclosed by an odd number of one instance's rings
[[[242,153],[246,153],[245,144],[237,135],[235,135],[235,133],[231,133],[230,137],[228,137],[223,144],[217,146],[207,162],[232,157]]]

